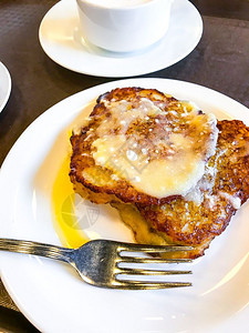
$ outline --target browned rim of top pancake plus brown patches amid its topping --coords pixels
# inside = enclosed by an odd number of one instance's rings
[[[108,121],[110,117],[108,108],[106,108],[106,101],[112,103],[113,101],[118,102],[125,100],[127,102],[131,102],[133,105],[136,105],[136,103],[138,103],[138,101],[143,98],[149,99],[155,105],[159,105],[160,110],[163,110],[163,112],[167,114],[167,117],[165,117],[164,114],[157,117],[156,120],[159,120],[159,124],[156,124],[155,121],[152,121],[148,127],[144,125],[143,122],[139,123],[139,121],[136,121],[128,128],[126,132],[126,139],[127,137],[132,138],[134,135],[134,131],[136,131],[136,133],[138,133],[136,139],[139,142],[145,142],[146,148],[153,145],[153,142],[159,135],[164,138],[165,124],[170,123],[170,121],[175,121],[174,113],[168,112],[168,110],[175,112],[176,114],[180,114],[183,112],[186,112],[186,108],[188,108],[186,105],[183,107],[183,104],[180,104],[179,101],[175,98],[165,95],[164,93],[155,89],[123,88],[115,89],[101,95],[97,99],[97,104],[94,107],[93,112],[90,115],[87,125],[83,127],[79,134],[73,133],[71,138],[73,154],[71,157],[70,178],[77,189],[80,189],[80,186],[82,185],[95,193],[105,195],[110,194],[111,200],[113,200],[113,196],[115,196],[117,201],[121,200],[125,203],[141,203],[146,205],[163,204],[166,202],[170,202],[175,198],[179,196],[167,195],[166,198],[160,199],[152,196],[143,191],[135,189],[134,185],[132,185],[129,181],[127,181],[125,174],[121,174],[120,179],[114,181],[111,170],[105,165],[96,165],[96,161],[93,158],[92,153],[94,149],[92,147],[92,143],[97,138],[100,138],[96,133],[96,129],[103,121]],[[203,114],[201,111],[199,112],[200,114]],[[178,123],[177,120],[177,125],[179,130],[181,130],[181,128],[186,124],[184,123],[184,121],[183,123]],[[152,129],[153,131],[151,132]],[[113,131],[114,134],[117,134],[118,128],[114,129]],[[193,129],[193,133],[194,132],[195,129]],[[188,134],[191,135],[193,133]],[[209,137],[210,133],[207,132],[206,135]],[[196,149],[199,149],[201,151],[201,148],[198,148],[198,145],[196,147]],[[163,153],[164,152],[162,151],[160,158],[164,158]],[[206,157],[207,152],[204,153],[204,159],[206,159]],[[153,159],[152,155],[149,158]],[[156,158],[158,158],[158,155]]]

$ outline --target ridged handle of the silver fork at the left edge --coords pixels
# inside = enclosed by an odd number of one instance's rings
[[[73,249],[65,249],[50,244],[11,239],[0,239],[0,250],[34,254],[64,261],[68,263],[71,263],[71,254],[73,252]]]

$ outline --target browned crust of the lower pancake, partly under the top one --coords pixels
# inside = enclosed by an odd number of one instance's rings
[[[231,216],[249,198],[249,128],[241,121],[219,121],[215,157],[215,185],[201,204],[176,199],[164,205],[137,205],[143,218],[170,243],[198,246],[189,256],[204,254],[211,240],[225,231]]]

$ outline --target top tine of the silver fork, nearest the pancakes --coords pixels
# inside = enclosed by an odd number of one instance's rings
[[[134,243],[121,243],[118,251],[134,251],[134,252],[176,252],[176,251],[190,251],[193,246],[181,246],[181,245],[144,245]]]

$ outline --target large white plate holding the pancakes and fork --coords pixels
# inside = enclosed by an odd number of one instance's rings
[[[60,244],[52,224],[50,195],[68,152],[68,129],[101,93],[131,85],[157,88],[178,99],[191,100],[219,118],[237,118],[248,124],[246,107],[210,89],[181,81],[129,79],[76,93],[39,117],[8,154],[0,173],[1,238]],[[193,287],[97,289],[83,283],[63,263],[3,252],[1,276],[19,309],[42,332],[246,332],[248,214],[247,203],[205,256],[186,264],[194,272]],[[129,232],[108,205],[101,208],[92,231],[102,238],[131,240]]]

